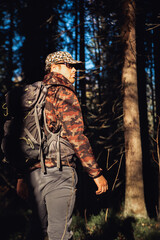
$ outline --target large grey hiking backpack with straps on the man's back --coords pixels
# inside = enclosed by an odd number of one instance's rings
[[[46,156],[56,156],[57,167],[61,167],[61,151],[74,151],[70,143],[60,137],[61,130],[49,131],[44,114],[45,99],[48,88],[42,81],[16,87],[6,94],[7,120],[4,123],[4,137],[1,149],[4,161],[10,163],[18,171],[30,167],[35,162],[41,163],[42,172],[46,173]],[[47,133],[47,134],[46,134]]]

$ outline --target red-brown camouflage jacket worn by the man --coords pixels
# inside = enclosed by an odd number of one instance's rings
[[[55,132],[61,126],[61,137],[70,142],[84,169],[93,178],[99,176],[102,169],[95,161],[89,140],[83,133],[82,112],[73,85],[63,75],[53,72],[47,74],[43,82],[54,85],[49,88],[46,97],[45,114],[49,130]],[[67,163],[62,161],[62,165]],[[54,160],[46,159],[46,166],[55,166]]]

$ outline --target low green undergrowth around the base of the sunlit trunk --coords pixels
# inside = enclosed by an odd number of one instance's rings
[[[110,215],[106,219],[106,211],[91,215],[85,221],[82,217],[73,217],[73,240],[158,240],[160,239],[160,223],[154,219],[123,218]]]

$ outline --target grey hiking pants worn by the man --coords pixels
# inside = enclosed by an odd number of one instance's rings
[[[47,174],[36,169],[29,175],[32,193],[33,213],[38,216],[43,235],[49,240],[68,240],[72,237],[69,230],[75,204],[77,174],[71,167],[47,168]],[[34,226],[36,233],[36,226]],[[40,233],[40,228],[37,229]],[[33,236],[32,236],[33,237]],[[36,239],[36,238],[35,238]],[[38,239],[43,239],[39,238]]]

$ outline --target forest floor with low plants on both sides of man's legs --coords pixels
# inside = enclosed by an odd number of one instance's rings
[[[6,209],[1,208],[0,239],[28,240],[32,212],[26,203],[14,203]],[[121,213],[114,214],[111,209],[103,209],[87,217],[74,214],[71,230],[73,240],[160,240],[160,222],[155,219],[124,218]]]

